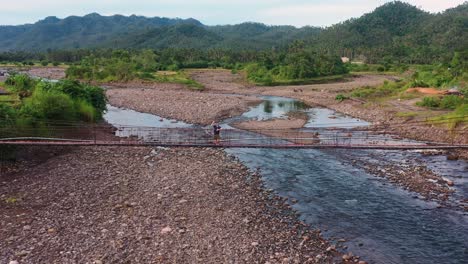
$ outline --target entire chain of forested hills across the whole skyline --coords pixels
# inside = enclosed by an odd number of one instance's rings
[[[379,62],[428,63],[465,51],[468,2],[439,14],[399,1],[328,28],[243,23],[205,26],[195,19],[100,16],[58,19],[0,27],[0,51],[76,48],[198,48],[272,50],[294,40],[309,47]]]

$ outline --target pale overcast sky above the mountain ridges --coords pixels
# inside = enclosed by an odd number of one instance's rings
[[[466,0],[406,0],[440,12]],[[246,21],[328,26],[371,12],[390,0],[0,0],[0,24],[33,23],[47,16],[102,15],[195,18],[207,25]]]

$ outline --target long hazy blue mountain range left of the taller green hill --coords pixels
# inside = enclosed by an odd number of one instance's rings
[[[48,17],[35,24],[0,27],[0,51],[77,48],[271,49],[320,32],[319,28],[243,23],[205,26],[195,19],[101,16]]]

